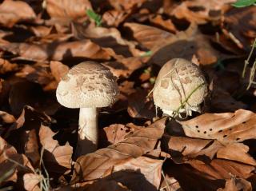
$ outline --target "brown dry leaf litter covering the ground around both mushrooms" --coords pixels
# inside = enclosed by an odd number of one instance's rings
[[[2,1],[0,190],[255,189],[253,3]],[[172,58],[202,68],[202,113],[164,117],[148,96]],[[78,109],[55,91],[83,61],[121,94],[99,113],[98,150],[76,158]]]

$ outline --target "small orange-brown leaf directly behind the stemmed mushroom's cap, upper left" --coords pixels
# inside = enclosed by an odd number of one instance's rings
[[[53,74],[55,80],[57,82],[60,82],[61,78],[64,77],[67,74],[67,72],[69,71],[69,66],[62,64],[62,62],[51,61],[50,62],[50,70],[51,70],[51,73]]]

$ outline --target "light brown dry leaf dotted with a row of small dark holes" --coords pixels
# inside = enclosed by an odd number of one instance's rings
[[[256,138],[255,113],[238,109],[234,113],[205,113],[188,121],[179,121],[189,137],[217,139],[228,144]]]

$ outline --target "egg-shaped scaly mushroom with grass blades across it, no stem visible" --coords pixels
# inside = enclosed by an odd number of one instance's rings
[[[200,68],[183,58],[174,58],[159,71],[153,97],[163,113],[175,117],[200,112],[206,93],[207,83]]]

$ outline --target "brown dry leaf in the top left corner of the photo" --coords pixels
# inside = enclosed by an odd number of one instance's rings
[[[0,23],[11,27],[19,21],[33,20],[36,15],[26,2],[5,0],[0,5],[0,18]]]

